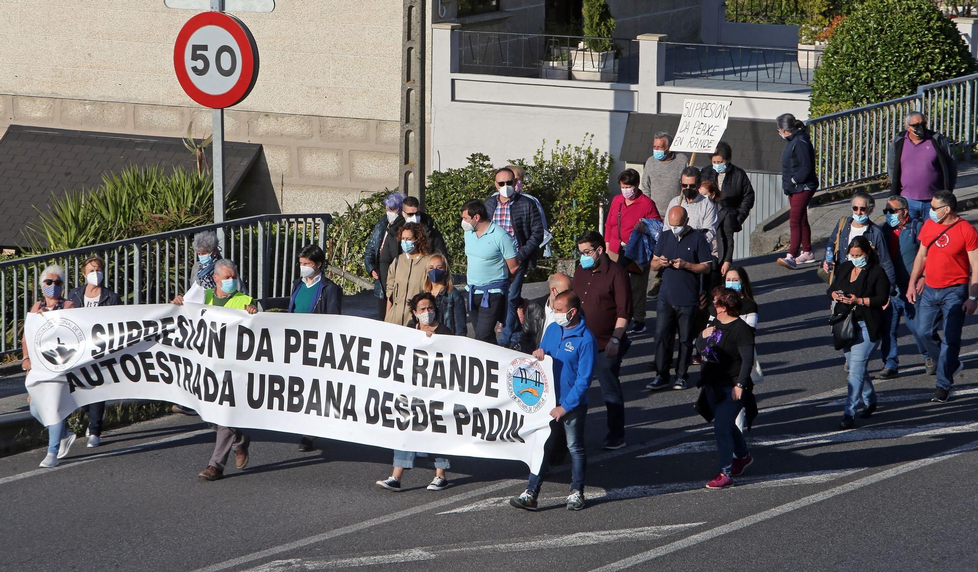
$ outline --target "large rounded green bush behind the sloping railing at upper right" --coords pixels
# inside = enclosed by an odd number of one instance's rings
[[[927,0],[866,0],[825,46],[809,114],[911,95],[920,85],[974,70],[954,22]]]

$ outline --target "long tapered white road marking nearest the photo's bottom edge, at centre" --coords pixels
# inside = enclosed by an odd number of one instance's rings
[[[370,556],[351,558],[333,558],[330,560],[303,560],[292,558],[276,560],[247,570],[246,572],[299,572],[305,570],[326,570],[330,568],[348,568],[351,566],[367,566],[372,564],[393,564],[397,562],[413,562],[418,560],[433,560],[439,556],[451,556],[472,552],[513,552],[523,550],[562,549],[567,547],[586,547],[616,542],[634,542],[663,538],[688,528],[700,526],[702,522],[689,524],[673,524],[667,526],[643,526],[641,528],[624,528],[621,530],[596,530],[575,532],[559,536],[543,535],[527,540],[526,537],[509,541],[492,543],[474,543],[465,545],[447,545],[442,547],[423,547],[400,551],[383,552]]]

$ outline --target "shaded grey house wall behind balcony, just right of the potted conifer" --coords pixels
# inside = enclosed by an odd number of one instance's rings
[[[698,42],[700,0],[606,0],[616,38],[646,32],[669,34],[674,42]]]

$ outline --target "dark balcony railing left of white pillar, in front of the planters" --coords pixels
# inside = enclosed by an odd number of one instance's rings
[[[634,39],[455,30],[459,70],[544,79],[639,81]]]

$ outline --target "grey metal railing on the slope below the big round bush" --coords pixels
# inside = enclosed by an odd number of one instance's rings
[[[978,73],[922,85],[911,96],[807,121],[822,189],[845,187],[886,174],[890,142],[906,129],[907,113],[927,116],[930,129],[959,148],[978,143]]]

